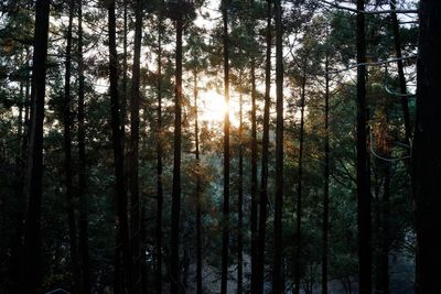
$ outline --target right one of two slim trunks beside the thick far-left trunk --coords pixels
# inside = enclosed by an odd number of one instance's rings
[[[78,0],[78,197],[79,197],[79,258],[82,264],[82,293],[90,293],[88,200],[86,173],[85,88],[83,58],[83,0]]]

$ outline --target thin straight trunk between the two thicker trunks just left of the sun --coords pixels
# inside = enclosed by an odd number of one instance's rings
[[[155,264],[155,288],[157,294],[162,293],[162,8],[158,22],[158,140],[157,140],[157,264]]]

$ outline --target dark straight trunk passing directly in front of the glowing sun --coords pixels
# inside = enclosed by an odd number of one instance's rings
[[[229,104],[229,39],[228,39],[228,0],[222,1],[223,43],[224,43],[224,96]],[[229,110],[224,118],[224,206],[222,233],[222,280],[220,294],[227,293],[229,251]]]

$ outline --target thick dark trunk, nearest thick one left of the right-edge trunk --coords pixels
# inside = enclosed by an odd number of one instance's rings
[[[367,156],[365,1],[357,0],[357,218],[359,293],[372,293],[370,185]]]

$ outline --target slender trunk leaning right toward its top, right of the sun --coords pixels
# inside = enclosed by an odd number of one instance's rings
[[[267,228],[267,204],[268,204],[268,157],[269,157],[269,109],[271,106],[271,0],[267,0],[267,52],[265,65],[265,106],[263,106],[263,134],[260,176],[260,209],[257,253],[257,287],[255,293],[263,293],[265,285],[265,239]]]

